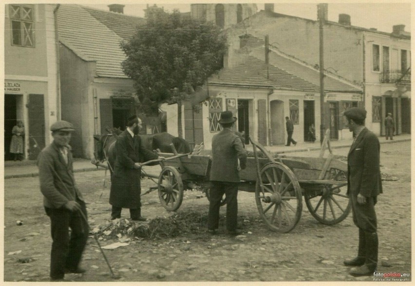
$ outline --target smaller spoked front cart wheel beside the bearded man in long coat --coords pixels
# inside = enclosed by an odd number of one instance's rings
[[[158,196],[168,211],[177,210],[183,201],[183,182],[174,167],[165,167],[158,178]]]

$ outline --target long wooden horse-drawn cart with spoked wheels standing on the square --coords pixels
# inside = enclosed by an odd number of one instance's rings
[[[294,229],[302,213],[302,196],[311,215],[323,224],[337,224],[347,217],[351,208],[346,195],[347,164],[332,154],[327,158],[274,158],[261,144],[250,141],[254,157],[248,157],[246,169],[240,171],[239,190],[255,192],[259,213],[269,229]],[[195,186],[209,198],[209,155],[177,157],[174,150],[159,155],[176,156],[161,163],[158,176],[158,194],[166,210],[177,210],[184,190]]]

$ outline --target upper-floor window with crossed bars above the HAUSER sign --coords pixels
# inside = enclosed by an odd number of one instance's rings
[[[34,47],[33,8],[25,5],[10,5],[12,45]]]

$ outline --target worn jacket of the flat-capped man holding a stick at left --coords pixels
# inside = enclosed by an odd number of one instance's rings
[[[55,142],[45,147],[38,156],[40,191],[43,205],[47,208],[61,208],[76,197],[83,201],[75,183],[71,146],[67,147],[68,164]]]

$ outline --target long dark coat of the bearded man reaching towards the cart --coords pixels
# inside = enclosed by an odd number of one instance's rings
[[[140,136],[125,130],[118,135],[115,143],[116,159],[111,179],[110,204],[114,207],[136,209],[141,207],[141,169],[134,169],[134,163],[157,159],[141,144]]]

